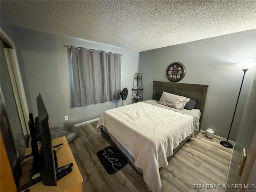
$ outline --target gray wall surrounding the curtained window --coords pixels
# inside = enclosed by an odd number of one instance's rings
[[[67,122],[64,116],[68,116],[68,121],[75,124],[92,120],[99,118],[105,110],[121,106],[121,100],[118,100],[118,102],[71,107],[70,49],[64,45],[122,54],[121,89],[128,88],[128,97],[124,102],[131,103],[130,90],[134,73],[138,71],[138,52],[14,26],[12,32],[29,112],[33,112],[34,116],[37,115],[36,96],[38,93],[42,94],[51,124]]]

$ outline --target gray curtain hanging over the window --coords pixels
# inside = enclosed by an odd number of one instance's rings
[[[74,106],[120,99],[120,54],[72,48]]]

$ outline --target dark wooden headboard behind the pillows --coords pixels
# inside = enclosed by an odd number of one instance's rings
[[[156,93],[163,91],[196,99],[198,102],[195,108],[201,111],[201,122],[202,116],[204,114],[204,104],[206,100],[207,88],[208,85],[154,81],[152,99],[154,99],[154,95]]]

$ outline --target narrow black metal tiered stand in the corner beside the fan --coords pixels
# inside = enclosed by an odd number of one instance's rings
[[[132,103],[143,101],[142,91],[142,75],[138,71],[134,74],[133,78]]]

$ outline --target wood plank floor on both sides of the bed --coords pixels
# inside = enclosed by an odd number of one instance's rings
[[[78,135],[70,148],[83,176],[84,192],[146,192],[148,188],[129,162],[115,174],[109,175],[96,156],[96,152],[112,145],[106,136],[99,134],[97,122],[79,126]],[[205,138],[202,134],[190,138],[160,169],[162,192],[224,191],[232,150],[219,144],[220,140]],[[198,184],[198,185],[196,185]],[[210,189],[207,184],[220,184]],[[193,189],[196,187],[195,189]],[[204,188],[198,189],[198,187]],[[216,186],[217,187],[217,186]]]

